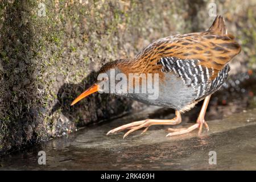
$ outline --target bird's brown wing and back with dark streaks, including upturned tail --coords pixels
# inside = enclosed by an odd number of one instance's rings
[[[226,34],[224,19],[217,16],[208,31],[159,39],[144,48],[136,59],[146,65],[143,72],[154,72],[156,63],[162,57],[199,60],[200,65],[214,70],[210,77],[213,80],[240,51],[241,47],[234,36]]]

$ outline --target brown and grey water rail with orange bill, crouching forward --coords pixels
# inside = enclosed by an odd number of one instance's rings
[[[99,85],[102,82],[109,85],[112,69],[115,73],[126,76],[129,73],[158,74],[159,94],[154,100],[148,99],[148,93],[116,92],[114,94],[130,97],[149,105],[171,107],[175,109],[175,118],[135,121],[110,130],[108,134],[128,130],[123,136],[125,138],[135,130],[144,129],[144,133],[152,125],[178,125],[181,123],[181,113],[204,100],[196,123],[188,128],[170,128],[167,137],[189,133],[195,129],[199,129],[200,135],[203,125],[209,130],[204,116],[210,96],[224,84],[230,70],[228,63],[240,51],[240,45],[226,30],[224,18],[218,15],[207,31],[168,36],[151,43],[133,58],[106,63],[99,72],[104,73],[106,77],[85,90],[71,105],[99,91]],[[139,84],[140,87],[141,85]]]

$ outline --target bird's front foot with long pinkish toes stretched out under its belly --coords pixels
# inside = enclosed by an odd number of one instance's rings
[[[113,130],[110,130],[106,135],[111,133],[117,133],[123,130],[129,130],[123,135],[123,138],[127,137],[133,131],[145,128],[141,134],[145,133],[148,127],[152,125],[178,125],[181,122],[181,115],[176,111],[176,117],[174,119],[146,119],[142,121],[135,121],[126,125],[119,126]]]

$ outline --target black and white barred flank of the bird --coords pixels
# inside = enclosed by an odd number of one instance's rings
[[[210,80],[214,69],[200,65],[200,60],[162,57],[157,64],[163,65],[162,72],[174,72],[185,85],[192,86],[196,91],[196,100],[216,92],[228,78],[230,70],[229,65],[226,65],[214,80]]]

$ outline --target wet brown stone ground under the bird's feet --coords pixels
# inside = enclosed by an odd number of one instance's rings
[[[168,126],[152,126],[126,139],[123,132],[106,136],[114,127],[147,118],[156,107],[92,126],[63,138],[51,140],[0,160],[1,169],[256,169],[256,109],[209,121],[210,131],[166,138]],[[191,124],[183,124],[183,127]],[[182,126],[176,126],[182,127]],[[38,152],[46,152],[46,165],[38,164]],[[209,152],[217,154],[217,164],[209,164]]]

